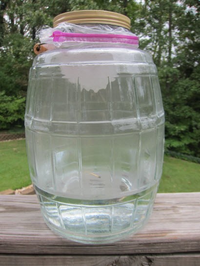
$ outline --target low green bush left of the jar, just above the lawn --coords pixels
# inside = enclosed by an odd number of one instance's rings
[[[7,96],[0,92],[0,129],[22,125],[25,111],[25,97]]]

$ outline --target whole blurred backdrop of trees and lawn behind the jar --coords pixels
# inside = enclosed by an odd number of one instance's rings
[[[200,191],[199,0],[0,0],[0,191],[31,183],[25,141],[5,139],[24,134],[38,33],[55,16],[84,9],[129,17],[140,49],[157,65],[166,116],[160,192]]]

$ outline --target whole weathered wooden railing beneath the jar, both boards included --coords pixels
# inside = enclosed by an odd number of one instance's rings
[[[158,194],[139,233],[106,245],[54,234],[36,195],[0,196],[0,266],[200,266],[200,193]]]

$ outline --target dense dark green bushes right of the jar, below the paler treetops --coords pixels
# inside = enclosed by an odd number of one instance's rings
[[[200,157],[200,80],[194,68],[185,78],[178,69],[159,69],[166,115],[165,147]]]

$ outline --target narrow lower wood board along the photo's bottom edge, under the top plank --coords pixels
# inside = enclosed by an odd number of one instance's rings
[[[0,255],[0,266],[200,266],[200,254],[133,256]]]

